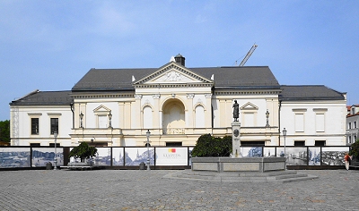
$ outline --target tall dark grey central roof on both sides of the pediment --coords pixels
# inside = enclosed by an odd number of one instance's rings
[[[277,87],[279,83],[267,66],[260,67],[204,67],[187,68],[210,80],[215,77],[215,89],[244,87]],[[132,76],[141,80],[158,68],[147,69],[91,69],[73,87],[73,91],[135,90]]]

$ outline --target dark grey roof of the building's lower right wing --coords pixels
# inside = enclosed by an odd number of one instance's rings
[[[345,99],[344,93],[329,89],[324,85],[281,86],[283,89],[279,99],[283,101],[294,100],[334,100]]]

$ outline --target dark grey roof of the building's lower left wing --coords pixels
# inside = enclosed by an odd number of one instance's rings
[[[71,91],[39,91],[13,100],[10,105],[70,105],[74,102]]]

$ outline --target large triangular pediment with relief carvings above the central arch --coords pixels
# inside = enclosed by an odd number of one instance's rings
[[[178,63],[171,62],[159,68],[158,71],[146,76],[144,79],[135,81],[134,85],[177,83],[214,83],[214,81],[206,79],[195,72],[191,72]]]

